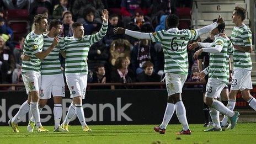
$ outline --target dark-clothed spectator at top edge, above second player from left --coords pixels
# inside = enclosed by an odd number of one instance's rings
[[[52,13],[52,18],[61,19],[63,12],[70,10],[68,7],[68,0],[60,0],[60,4],[54,6],[54,12]]]

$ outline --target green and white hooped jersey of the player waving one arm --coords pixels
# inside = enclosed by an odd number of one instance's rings
[[[65,38],[65,75],[88,74],[87,56],[89,48],[95,42],[99,41],[106,34],[108,23],[103,23],[100,31],[93,35],[83,36],[81,39],[74,37]]]

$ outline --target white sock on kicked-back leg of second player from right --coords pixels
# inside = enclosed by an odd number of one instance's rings
[[[228,109],[223,103],[221,103],[218,100],[214,100],[211,104],[212,108],[215,108],[216,110],[220,111],[221,114],[226,115],[228,117],[234,116],[234,111]]]

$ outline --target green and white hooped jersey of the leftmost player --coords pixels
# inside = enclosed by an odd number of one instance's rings
[[[42,51],[44,45],[44,37],[42,34],[37,35],[34,31],[31,31],[26,35],[24,42],[23,54],[30,56],[30,60],[22,61],[22,72],[41,72],[41,60],[35,56],[36,53]]]

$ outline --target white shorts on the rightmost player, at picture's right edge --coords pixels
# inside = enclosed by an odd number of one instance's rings
[[[235,68],[231,89],[232,90],[253,89],[250,72],[251,72],[250,70],[246,70],[245,68]]]

